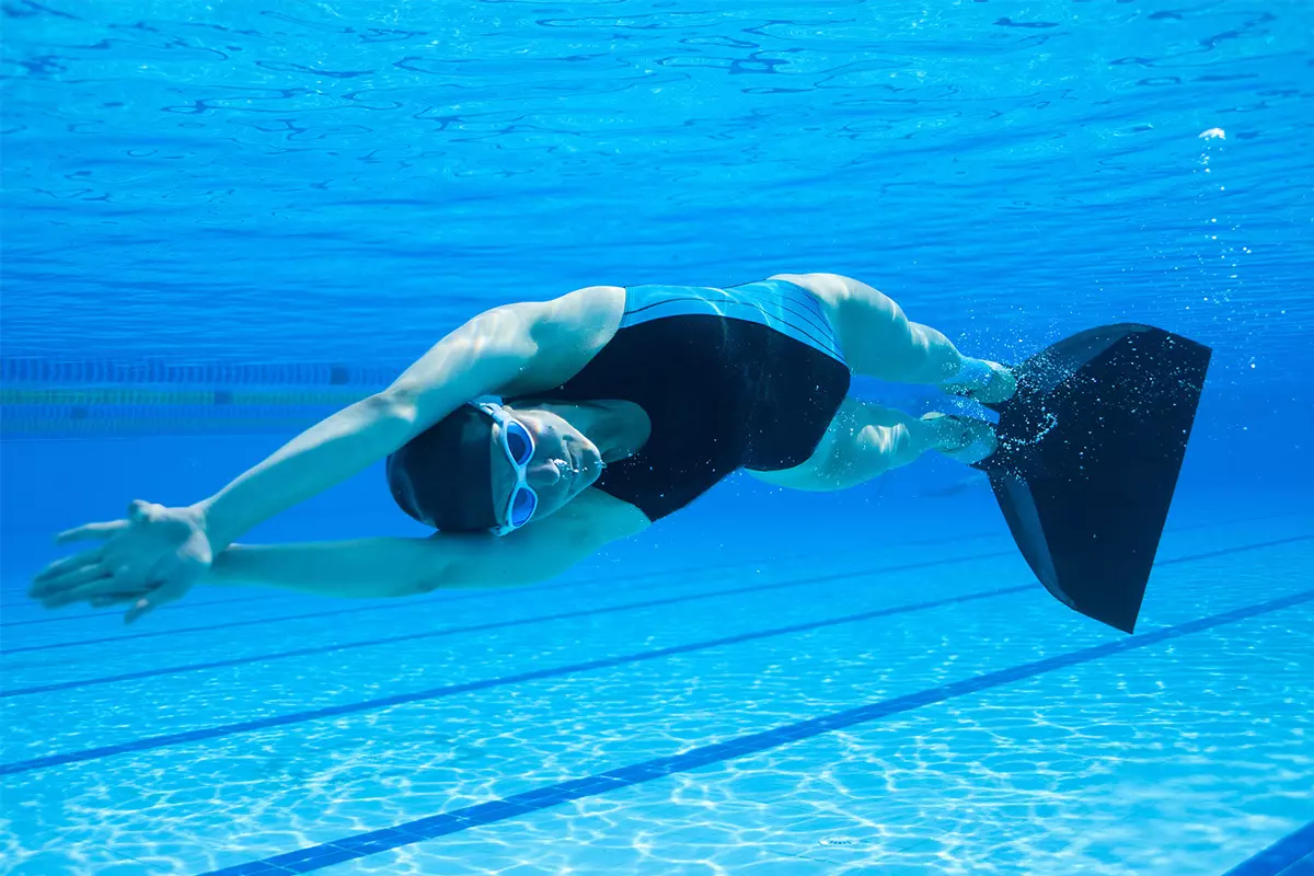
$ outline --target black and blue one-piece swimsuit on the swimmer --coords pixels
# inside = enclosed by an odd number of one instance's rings
[[[804,462],[849,380],[820,302],[792,282],[629,286],[615,336],[578,374],[535,397],[644,408],[648,441],[594,486],[657,520],[736,469]]]

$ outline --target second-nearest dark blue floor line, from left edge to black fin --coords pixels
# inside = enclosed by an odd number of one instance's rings
[[[725,647],[728,645],[740,645],[742,642],[752,642],[762,638],[773,638],[777,636],[791,636],[794,633],[805,633],[815,629],[825,629],[827,626],[838,626],[840,624],[855,624],[861,621],[875,620],[878,617],[890,617],[892,615],[908,615],[912,612],[926,611],[929,608],[940,608],[942,605],[955,605],[959,603],[968,603],[978,599],[992,599],[996,596],[1021,594],[1031,590],[1034,590],[1031,584],[999,587],[995,590],[976,591],[971,594],[963,594],[959,596],[947,596],[945,599],[936,599],[924,603],[913,603],[911,605],[894,605],[888,608],[876,608],[872,611],[859,612],[857,615],[845,615],[842,617],[828,617],[825,620],[808,621],[805,624],[791,624],[788,626],[777,626],[774,629],[763,629],[753,633],[740,633],[737,636],[725,636],[723,638],[704,640],[702,642],[689,642],[686,645],[658,647],[648,651],[639,651],[636,654],[622,654],[620,657],[603,657],[599,659],[585,661],[582,663],[572,663],[568,666],[552,666],[541,670],[533,670],[530,672],[518,672],[515,675],[503,675],[499,678],[481,679],[478,682],[465,682],[464,684],[448,684],[444,687],[430,688],[427,691],[414,691],[411,693],[394,693],[393,696],[381,696],[373,700],[359,700],[356,703],[343,703],[342,705],[328,705],[319,709],[309,709],[306,712],[293,712],[289,714],[277,714],[267,718],[239,721],[237,724],[225,724],[219,726],[201,728],[198,730],[187,730],[184,733],[170,733],[167,735],[146,737],[143,739],[121,742],[118,745],[106,745],[96,749],[83,749],[81,751],[67,751],[64,754],[51,754],[42,758],[32,758],[30,760],[14,760],[13,763],[0,764],[0,775],[30,772],[33,770],[46,770],[49,767],[58,767],[68,763],[84,763],[87,760],[97,760],[100,758],[108,758],[116,754],[127,754],[130,751],[150,751],[154,749],[163,749],[171,745],[198,742],[201,739],[214,739],[218,737],[234,735],[238,733],[250,733],[252,730],[267,730],[269,728],[288,726],[290,724],[304,724],[305,721],[317,721],[319,718],[332,718],[343,714],[356,714],[359,712],[372,712],[376,709],[384,709],[393,705],[436,700],[444,696],[469,693],[472,691],[486,691],[489,688],[503,687],[506,684],[520,684],[523,682],[537,682],[540,679],[547,679],[547,678],[574,675],[576,672],[590,672],[594,670],[612,668],[616,666],[627,666],[631,663],[643,663],[646,661],[661,659],[664,657],[674,657],[675,654],[690,654],[694,651],[702,651],[712,647]]]

